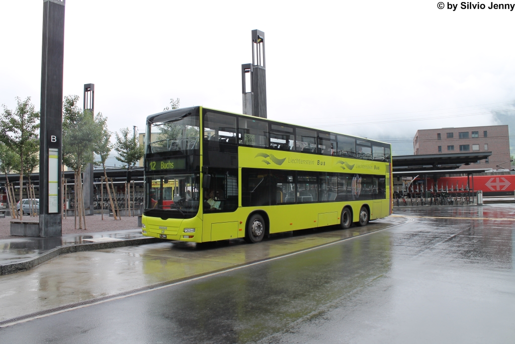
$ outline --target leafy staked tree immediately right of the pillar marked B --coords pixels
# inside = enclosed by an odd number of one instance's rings
[[[63,164],[75,172],[75,209],[79,215],[79,229],[86,229],[82,194],[82,170],[93,162],[94,143],[101,140],[102,126],[95,122],[89,110],[77,106],[79,96],[68,95],[63,102]]]

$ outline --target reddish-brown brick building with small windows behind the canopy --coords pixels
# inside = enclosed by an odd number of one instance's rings
[[[510,144],[507,125],[421,129],[413,139],[413,151],[420,154],[492,152],[486,160],[461,169],[509,169]]]

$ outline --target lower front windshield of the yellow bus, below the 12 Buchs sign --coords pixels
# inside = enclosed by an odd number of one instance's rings
[[[197,215],[200,193],[198,173],[146,176],[145,214],[161,218]]]

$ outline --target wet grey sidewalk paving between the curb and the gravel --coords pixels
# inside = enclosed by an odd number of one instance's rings
[[[15,263],[36,257],[59,246],[90,243],[93,238],[135,239],[141,238],[141,230],[101,233],[67,234],[56,238],[19,237],[0,240],[0,264]]]

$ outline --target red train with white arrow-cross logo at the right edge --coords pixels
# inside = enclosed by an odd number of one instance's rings
[[[421,180],[419,176],[417,180]],[[513,196],[515,191],[515,175],[475,175],[470,178],[464,177],[441,177],[436,183],[433,178],[427,178],[427,190],[442,190],[449,192],[460,192],[467,190],[467,183],[470,181],[469,189],[472,191],[483,191],[483,196]]]

